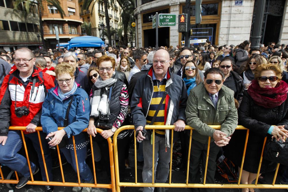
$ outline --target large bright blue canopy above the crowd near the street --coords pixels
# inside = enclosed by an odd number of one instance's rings
[[[74,37],[68,41],[70,47],[101,47],[104,46],[104,41],[99,37],[82,36]]]

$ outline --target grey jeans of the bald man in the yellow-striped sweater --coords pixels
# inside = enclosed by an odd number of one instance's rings
[[[143,142],[143,183],[152,183],[152,147],[150,140],[144,140]],[[165,147],[165,137],[159,137],[155,135],[155,150],[154,150],[154,181],[155,183],[165,183],[169,174],[169,163],[171,149]],[[157,161],[158,159],[158,161]],[[158,163],[158,165],[157,165]],[[157,166],[157,170],[156,170]],[[144,192],[153,192],[154,187],[144,187]]]

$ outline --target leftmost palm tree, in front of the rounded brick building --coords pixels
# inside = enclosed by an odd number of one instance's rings
[[[46,1],[49,5],[53,5],[54,7],[56,7],[58,9],[58,12],[60,13],[61,18],[64,18],[65,13],[61,7],[61,4],[59,2],[59,0],[36,0],[37,1],[37,5],[38,5],[38,15],[39,15],[39,27],[40,27],[40,33],[41,33],[41,40],[43,43],[43,48],[46,49],[46,45],[44,43],[44,32],[43,32],[43,22],[42,22],[42,9],[43,9],[43,1]],[[16,0],[14,2],[14,9],[15,10],[20,10],[21,7],[21,3],[24,3],[24,9],[26,12],[23,12],[23,16],[26,18],[28,16],[28,13],[31,12],[31,6],[34,5],[35,0],[31,1],[31,0]]]

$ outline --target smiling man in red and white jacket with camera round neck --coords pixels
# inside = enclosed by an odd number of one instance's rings
[[[35,57],[28,48],[16,50],[14,61],[15,69],[5,76],[0,90],[0,163],[23,175],[16,185],[19,189],[26,185],[31,175],[27,159],[18,154],[22,147],[21,131],[9,130],[9,126],[26,126],[24,135],[32,141],[38,154],[42,179],[47,181],[35,128],[40,125],[42,103],[47,90],[54,87],[54,82],[50,75],[34,66]],[[46,134],[40,132],[48,177],[52,181],[52,160],[45,137]],[[30,166],[33,174],[39,170],[33,162]],[[53,191],[53,187],[46,186],[45,191]]]

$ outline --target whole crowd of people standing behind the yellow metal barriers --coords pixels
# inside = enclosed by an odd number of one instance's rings
[[[23,143],[21,132],[9,130],[9,126],[25,126],[24,136],[37,152],[43,181],[53,181],[52,163],[58,159],[52,158],[51,149],[58,145],[75,172],[78,166],[81,183],[94,183],[86,162],[91,135],[97,168],[101,166],[111,180],[107,138],[113,139],[118,128],[132,124],[139,142],[137,162],[143,164],[143,183],[152,183],[153,139],[154,182],[166,183],[171,163],[169,148],[177,140],[181,142],[182,163],[187,165],[188,125],[194,128],[189,183],[200,183],[208,142],[206,183],[214,183],[216,161],[221,155],[240,170],[246,131],[235,129],[242,125],[250,130],[250,136],[240,180],[252,184],[264,138],[285,141],[288,137],[287,52],[285,44],[271,42],[255,49],[250,48],[249,41],[237,46],[207,42],[195,47],[138,49],[124,45],[63,51],[0,49],[0,163],[21,174],[16,188],[31,179],[27,159],[18,153]],[[173,143],[171,130],[156,129],[153,135],[146,125],[174,125]],[[209,125],[221,125],[221,129]],[[48,178],[37,126],[43,128],[40,138]],[[87,134],[82,132],[85,128]],[[103,130],[101,134],[96,128]],[[120,182],[129,166],[130,135],[124,130],[116,138]],[[35,162],[31,161],[30,166],[32,174],[39,171]],[[258,181],[264,182],[263,174],[275,169],[275,162],[264,159]],[[281,184],[288,184],[285,168]],[[91,188],[72,188],[74,192],[80,190],[90,192]],[[53,191],[53,186],[45,186],[45,191]],[[144,187],[143,191],[165,188]],[[254,189],[242,189],[248,191]]]

